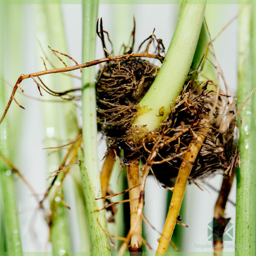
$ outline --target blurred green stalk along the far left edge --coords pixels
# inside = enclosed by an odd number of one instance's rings
[[[8,19],[7,19],[8,20]],[[4,86],[4,51],[3,51],[3,35],[4,35],[4,5],[0,4],[0,111],[2,112],[6,104],[6,93]],[[3,121],[0,125],[0,152],[6,156],[9,156],[9,123],[7,119]],[[9,169],[9,166],[0,157],[0,188],[2,190],[3,201],[3,218],[5,228],[5,233],[1,236],[5,238],[5,244],[9,254],[17,253],[17,255],[22,255],[22,246],[20,239],[20,227],[17,211],[17,203],[15,197],[14,180],[13,174]],[[1,209],[2,209],[1,207]],[[2,221],[2,220],[1,220]],[[4,248],[0,248],[3,251]]]

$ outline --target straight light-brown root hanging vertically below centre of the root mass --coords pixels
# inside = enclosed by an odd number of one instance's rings
[[[127,180],[128,188],[136,186],[134,189],[131,189],[129,191],[129,198],[131,200],[137,198],[137,200],[130,201],[130,223],[131,226],[133,226],[136,220],[140,199],[140,186],[138,186],[140,184],[139,161],[136,161],[135,163],[132,163],[131,165],[127,166]],[[142,218],[140,218],[139,221],[137,221],[136,228],[131,234],[129,251],[142,251]]]

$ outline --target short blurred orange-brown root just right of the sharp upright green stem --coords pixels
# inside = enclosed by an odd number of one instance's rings
[[[100,173],[100,183],[101,183],[101,187],[102,187],[102,198],[105,198],[105,196],[107,195],[108,184],[109,184],[109,180],[111,177],[113,165],[115,163],[115,160],[112,157],[112,155],[113,155],[112,151],[113,150],[110,148],[105,157],[105,161],[102,166],[102,171]]]

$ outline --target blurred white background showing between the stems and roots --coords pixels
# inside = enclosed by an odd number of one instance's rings
[[[7,80],[15,84],[18,76],[21,73],[32,73],[39,70],[44,70],[43,64],[40,62],[40,57],[43,55],[38,46],[36,36],[38,37],[38,27],[44,26],[46,15],[41,12],[36,5],[13,6],[21,12],[23,18],[23,35],[22,38],[16,38],[17,47],[20,55],[17,58],[22,59],[22,65],[19,69],[12,70],[12,63],[9,61],[9,52],[5,55],[5,72],[11,75],[6,75]],[[67,38],[67,54],[71,55],[76,61],[81,63],[81,29],[82,29],[82,8],[81,5],[62,5],[61,6],[64,27]],[[39,11],[38,11],[39,10]],[[175,28],[179,6],[172,5],[99,5],[98,17],[103,18],[104,28],[109,32],[110,38],[113,41],[115,54],[119,53],[119,48],[123,42],[128,42],[133,27],[133,15],[136,20],[135,34],[135,51],[140,43],[151,35],[155,28],[157,38],[162,38],[166,46],[166,50],[172,38],[172,33]],[[209,5],[206,11],[206,20],[209,26],[212,38],[238,13],[237,5]],[[18,21],[17,21],[18,22]],[[56,20],[56,22],[58,22]],[[119,30],[117,35],[115,31]],[[6,39],[6,49],[9,41]],[[47,44],[48,45],[48,44]],[[43,45],[47,49],[47,45]],[[53,49],[58,50],[58,45],[51,45]],[[216,39],[214,43],[218,62],[223,69],[233,95],[236,93],[237,84],[237,20],[234,21],[225,31]],[[49,53],[49,52],[48,52]],[[50,54],[50,53],[49,53]],[[102,45],[97,38],[96,58],[102,58],[104,53]],[[19,61],[20,61],[19,59]],[[90,61],[90,60],[88,60]],[[41,63],[40,67],[38,63]],[[61,65],[60,65],[61,66]],[[79,71],[76,72],[79,75]],[[75,87],[81,86],[81,82],[74,79]],[[49,84],[48,84],[49,85]],[[32,81],[24,81],[22,84],[25,93],[33,96],[38,95],[38,90]],[[50,87],[50,85],[49,85]],[[8,91],[9,92],[9,91]],[[17,105],[12,105],[12,111],[17,111],[21,116],[16,132],[19,134],[19,146],[17,148],[17,158],[15,166],[23,172],[30,183],[36,188],[39,195],[43,195],[47,187],[46,182],[46,160],[47,153],[42,151],[44,145],[44,134],[42,115],[42,103],[18,96],[17,99],[22,102],[26,110],[21,110]],[[78,116],[81,124],[81,111],[78,110]],[[105,153],[105,143],[100,143],[99,159],[102,159]],[[102,163],[101,163],[102,164]],[[204,183],[199,182],[204,188],[201,191],[194,184],[191,184],[186,189],[186,212],[182,215],[182,221],[189,227],[183,228],[183,246],[181,251],[206,252],[212,251],[212,242],[208,241],[207,224],[212,221],[213,209],[218,193],[210,189],[206,183],[210,183],[216,190],[221,187],[221,175],[210,177],[204,180]],[[236,183],[236,182],[234,182]],[[71,183],[70,186],[72,186]],[[235,185],[235,184],[234,184]],[[17,198],[20,211],[21,233],[24,251],[49,251],[50,245],[49,230],[45,224],[42,212],[38,210],[38,205],[31,192],[26,188],[22,181],[17,182]],[[145,216],[151,223],[162,230],[164,224],[164,216],[166,214],[166,198],[167,193],[153,177],[148,177],[145,192]],[[236,201],[235,186],[230,194],[230,200]],[[67,203],[71,207],[69,213],[72,219],[73,227],[71,228],[73,237],[73,251],[79,251],[80,241],[78,230],[78,222],[76,215],[72,213],[76,209],[74,204],[74,195],[69,193],[66,198]],[[231,203],[227,203],[227,217],[231,218],[235,230],[235,207]],[[148,236],[148,243],[154,248],[157,248],[157,239],[159,235],[145,224],[145,232]],[[234,251],[233,241],[227,242],[228,247],[224,251]],[[202,248],[204,247],[204,248]]]

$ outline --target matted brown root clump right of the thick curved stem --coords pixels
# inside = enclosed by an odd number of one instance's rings
[[[188,93],[188,97],[186,93]],[[184,99],[183,103],[169,115],[162,131],[166,130],[165,136],[174,137],[178,131],[189,129],[177,140],[173,140],[172,143],[161,148],[155,161],[162,160],[163,163],[152,166],[155,176],[167,186],[173,186],[183,157],[164,160],[185,152],[189,143],[200,135],[200,130],[203,127],[208,130],[207,136],[193,165],[190,177],[192,179],[204,178],[217,170],[222,170],[222,173],[230,176],[239,162],[238,148],[233,139],[236,121],[232,120],[223,134],[220,133],[219,123],[216,122],[221,118],[226,96],[219,96],[216,108],[213,109],[216,93],[207,90],[207,83],[203,87],[196,88],[193,88],[192,84],[188,84],[182,94],[180,97]],[[201,122],[202,120],[209,120],[209,122]]]

